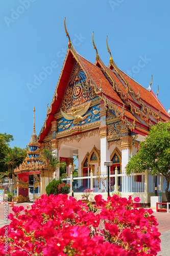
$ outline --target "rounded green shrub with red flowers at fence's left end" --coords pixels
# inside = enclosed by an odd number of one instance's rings
[[[59,180],[53,180],[50,182],[46,188],[46,194],[47,196],[52,195],[58,195],[58,194],[68,194],[69,193],[69,184],[64,183],[61,178]]]

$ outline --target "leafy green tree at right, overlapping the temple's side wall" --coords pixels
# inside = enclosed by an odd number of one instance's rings
[[[138,153],[127,164],[126,173],[140,173],[145,169],[151,169],[152,175],[161,173],[165,177],[165,196],[170,202],[170,122],[159,122],[152,127],[149,135],[140,142]]]

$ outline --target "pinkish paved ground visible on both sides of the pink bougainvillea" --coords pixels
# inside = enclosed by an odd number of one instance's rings
[[[27,206],[31,207],[32,202],[30,203],[14,203],[14,206],[20,206],[22,205],[27,208]],[[9,223],[5,223],[4,220],[4,209],[5,205],[0,204],[0,228],[4,225],[7,225]],[[10,204],[8,205],[8,215],[12,213],[12,207]],[[158,231],[161,233],[160,239],[161,239],[161,252],[159,252],[157,255],[160,256],[170,256],[170,250],[169,250],[169,243],[170,243],[170,213],[167,212],[154,212],[153,215],[156,217],[157,222],[159,223]]]

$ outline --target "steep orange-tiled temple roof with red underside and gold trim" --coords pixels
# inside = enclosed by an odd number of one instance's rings
[[[73,46],[69,47],[59,76],[56,90],[47,116],[39,134],[42,142],[51,127],[54,115],[60,110],[64,92],[75,63],[79,63],[86,78],[99,93],[108,108],[112,108],[131,130],[144,135],[158,121],[169,121],[170,116],[163,108],[157,97],[151,91],[120,71],[114,61],[106,67],[100,57],[95,65],[79,55]]]

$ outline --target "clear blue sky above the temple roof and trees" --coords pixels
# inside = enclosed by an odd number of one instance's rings
[[[12,147],[25,147],[33,133],[35,104],[39,134],[67,50],[64,17],[79,54],[95,62],[94,31],[96,48],[108,65],[108,35],[109,48],[119,69],[133,74],[145,88],[153,74],[152,90],[156,94],[159,84],[158,99],[168,110],[169,8],[169,0],[1,1],[0,133],[14,136]],[[142,65],[140,59],[144,59]],[[47,69],[48,66],[52,68]]]

